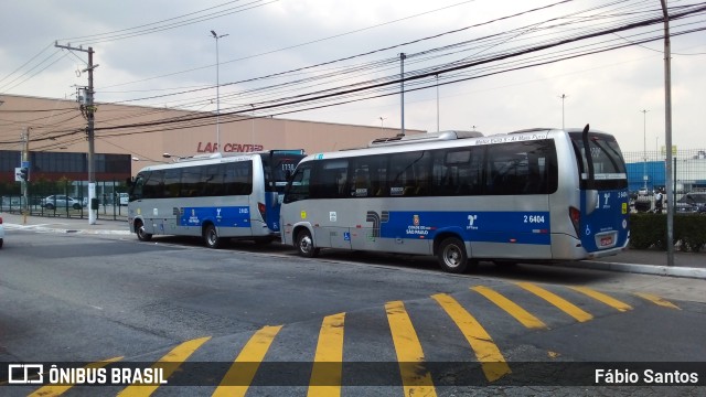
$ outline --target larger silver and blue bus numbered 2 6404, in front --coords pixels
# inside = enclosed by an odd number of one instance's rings
[[[282,243],[434,255],[462,272],[499,264],[579,260],[628,246],[628,178],[603,132],[446,131],[312,154],[281,207]]]

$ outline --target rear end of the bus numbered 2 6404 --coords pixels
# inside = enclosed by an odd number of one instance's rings
[[[625,165],[613,137],[603,133],[571,135],[582,159],[579,163],[580,210],[571,214],[588,253],[623,247],[629,237],[629,193]],[[577,211],[576,208],[571,210]],[[576,226],[576,225],[575,225]]]

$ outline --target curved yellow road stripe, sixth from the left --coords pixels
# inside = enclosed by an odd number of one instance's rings
[[[466,336],[466,340],[475,352],[475,357],[481,363],[485,378],[490,382],[500,379],[511,373],[500,348],[490,337],[485,329],[451,296],[437,293],[431,296],[449,314]]]

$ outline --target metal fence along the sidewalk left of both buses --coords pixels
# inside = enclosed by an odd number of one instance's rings
[[[127,219],[126,194],[125,182],[96,182],[98,218]],[[89,208],[86,181],[28,182],[26,198],[20,183],[0,185],[0,212],[26,210],[30,215],[88,218]]]

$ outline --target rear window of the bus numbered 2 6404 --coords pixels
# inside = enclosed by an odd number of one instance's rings
[[[578,161],[580,189],[587,189],[588,163],[580,132],[570,132]],[[628,173],[622,152],[616,138],[605,133],[589,133],[589,149],[593,163],[593,189],[612,190],[628,187]]]

